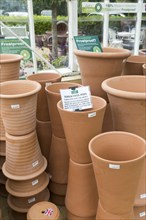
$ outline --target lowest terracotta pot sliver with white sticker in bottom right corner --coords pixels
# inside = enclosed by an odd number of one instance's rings
[[[146,218],[146,205],[134,206],[135,220],[145,220]]]

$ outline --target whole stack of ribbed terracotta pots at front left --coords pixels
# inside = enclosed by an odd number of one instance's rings
[[[41,153],[36,133],[38,82],[12,80],[0,84],[1,116],[5,127],[8,204],[26,213],[36,202],[48,200],[47,160]]]

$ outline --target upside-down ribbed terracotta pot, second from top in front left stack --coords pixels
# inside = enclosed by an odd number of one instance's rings
[[[2,167],[5,176],[28,180],[44,172],[46,166],[35,131],[24,136],[6,133],[6,162]]]

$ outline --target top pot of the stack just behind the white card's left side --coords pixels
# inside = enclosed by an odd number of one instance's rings
[[[62,127],[61,118],[57,109],[57,102],[60,101],[60,89],[68,89],[69,87],[81,86],[77,83],[60,82],[53,83],[52,85],[46,86],[46,94],[48,100],[48,107],[50,113],[50,120],[52,126],[52,133],[56,137],[65,138],[64,130]]]

